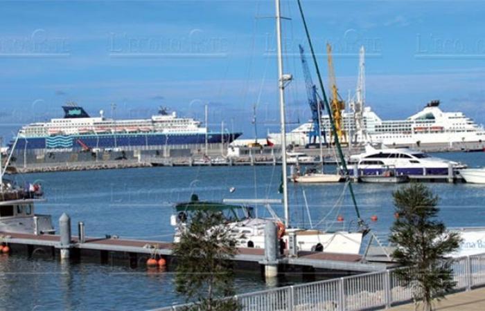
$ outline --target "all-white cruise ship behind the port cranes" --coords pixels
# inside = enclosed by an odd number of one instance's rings
[[[354,144],[377,143],[387,147],[420,147],[443,145],[452,147],[455,143],[485,142],[483,126],[476,124],[461,112],[444,112],[439,100],[426,104],[422,111],[406,120],[382,120],[371,107],[362,112],[363,131],[355,129],[354,113],[344,113],[344,129]],[[322,116],[322,125],[326,131],[326,141],[330,121],[328,115]],[[312,132],[312,122],[302,124],[288,133],[288,143],[304,146],[308,144],[308,135]],[[279,142],[279,133],[270,133],[272,142]]]

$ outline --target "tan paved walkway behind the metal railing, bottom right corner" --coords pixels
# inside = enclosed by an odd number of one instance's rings
[[[389,310],[414,311],[414,304],[400,305]],[[485,288],[450,294],[435,304],[433,310],[461,310],[461,311],[483,311],[485,310]]]

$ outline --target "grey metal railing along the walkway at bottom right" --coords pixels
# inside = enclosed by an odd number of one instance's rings
[[[346,276],[340,279],[286,286],[234,296],[243,311],[344,311],[387,309],[413,299],[412,285],[405,284],[396,268]],[[485,254],[453,259],[455,290],[463,291],[485,285]],[[174,305],[162,311],[183,310],[188,305]]]

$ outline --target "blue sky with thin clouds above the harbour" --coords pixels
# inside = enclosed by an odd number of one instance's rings
[[[355,93],[366,49],[366,104],[403,119],[430,100],[485,123],[483,1],[302,0],[322,77],[333,45],[340,95]],[[289,129],[310,119],[296,0],[281,2]],[[0,136],[62,117],[150,117],[159,106],[254,136],[278,131],[274,1],[0,1]],[[309,57],[309,55],[307,55]],[[316,82],[315,70],[311,68]],[[116,109],[112,111],[112,103]]]

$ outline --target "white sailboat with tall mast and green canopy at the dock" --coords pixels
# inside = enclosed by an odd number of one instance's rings
[[[288,202],[288,171],[286,131],[285,131],[285,86],[292,80],[292,75],[283,73],[283,57],[281,44],[281,10],[280,0],[276,0],[276,38],[278,51],[278,84],[279,106],[281,122],[281,146],[282,146],[282,200],[223,200],[222,202],[201,201],[198,196],[192,195],[189,202],[182,202],[174,206],[175,214],[170,218],[170,223],[175,227],[174,242],[179,238],[191,221],[191,217],[197,211],[218,211],[225,216],[226,225],[230,228],[230,235],[236,240],[236,247],[264,248],[265,247],[265,224],[276,223],[279,228],[278,238],[285,249],[296,245],[297,251],[329,252],[337,254],[359,254],[364,231],[321,231],[319,229],[303,229],[292,227],[290,224],[290,209]],[[322,88],[323,91],[323,88]],[[339,145],[340,147],[340,145]],[[272,204],[283,203],[283,219],[274,213]],[[254,208],[251,204],[264,205],[269,211],[270,218],[254,216]],[[360,218],[360,216],[359,216]],[[291,237],[291,238],[290,238]]]

